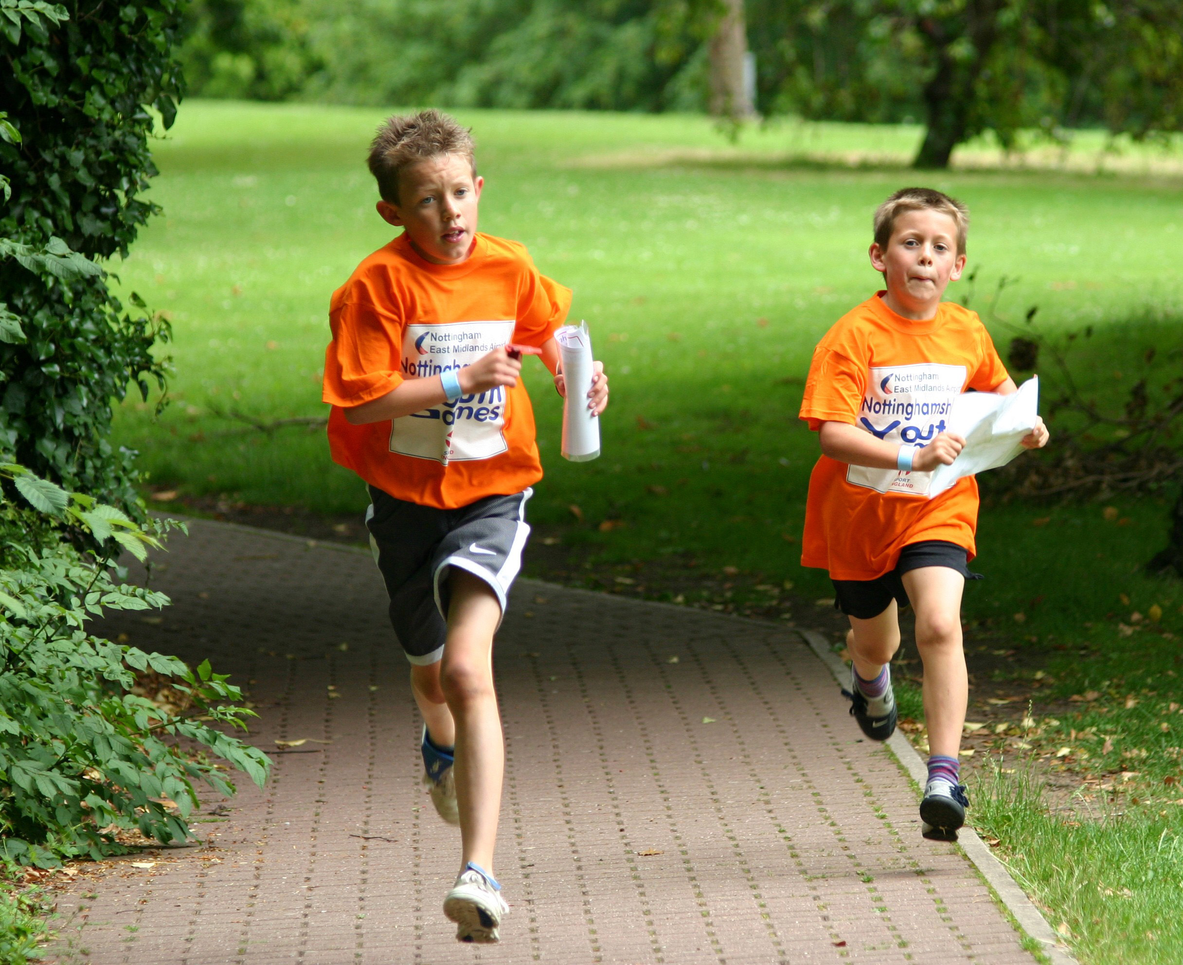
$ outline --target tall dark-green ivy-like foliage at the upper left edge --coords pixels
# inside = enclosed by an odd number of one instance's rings
[[[111,401],[163,384],[168,325],[124,311],[89,259],[127,255],[157,211],[149,108],[172,124],[180,6],[0,0],[0,447],[124,509],[134,454],[108,441]]]

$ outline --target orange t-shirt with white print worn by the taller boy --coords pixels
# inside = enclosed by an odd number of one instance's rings
[[[323,399],[335,462],[397,499],[453,510],[542,479],[525,386],[366,426],[342,408],[405,378],[461,369],[510,342],[539,347],[567,317],[571,292],[538,273],[523,245],[478,233],[459,265],[435,265],[406,234],[379,248],[332,293]]]

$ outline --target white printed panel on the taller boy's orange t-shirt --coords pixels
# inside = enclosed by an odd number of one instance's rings
[[[451,322],[439,325],[407,325],[402,336],[406,378],[429,378],[467,368],[480,356],[508,345],[515,322]],[[429,409],[395,419],[390,427],[390,452],[416,459],[490,459],[509,449],[503,429],[509,414],[505,389],[461,395]]]

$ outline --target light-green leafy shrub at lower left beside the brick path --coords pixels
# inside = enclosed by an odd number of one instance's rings
[[[86,630],[105,610],[168,603],[117,583],[114,562],[123,550],[143,558],[177,524],[141,525],[13,462],[0,464],[0,478],[27,504],[0,503],[0,857],[41,867],[98,859],[124,850],[119,829],[185,841],[194,782],[234,792],[201,749],[260,786],[266,779],[266,756],[219,730],[245,728],[254,714],[235,706],[241,692],[208,661],[193,671]],[[132,693],[136,672],[167,678],[182,706]]]

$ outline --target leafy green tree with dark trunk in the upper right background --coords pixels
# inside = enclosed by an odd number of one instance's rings
[[[993,132],[1148,137],[1183,121],[1183,5],[1174,0],[751,0],[765,110],[925,121],[920,168]]]

